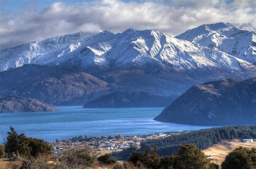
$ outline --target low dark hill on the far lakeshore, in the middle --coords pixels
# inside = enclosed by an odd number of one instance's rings
[[[156,95],[146,92],[111,93],[87,102],[84,108],[121,108],[121,107],[165,107],[177,96]]]

